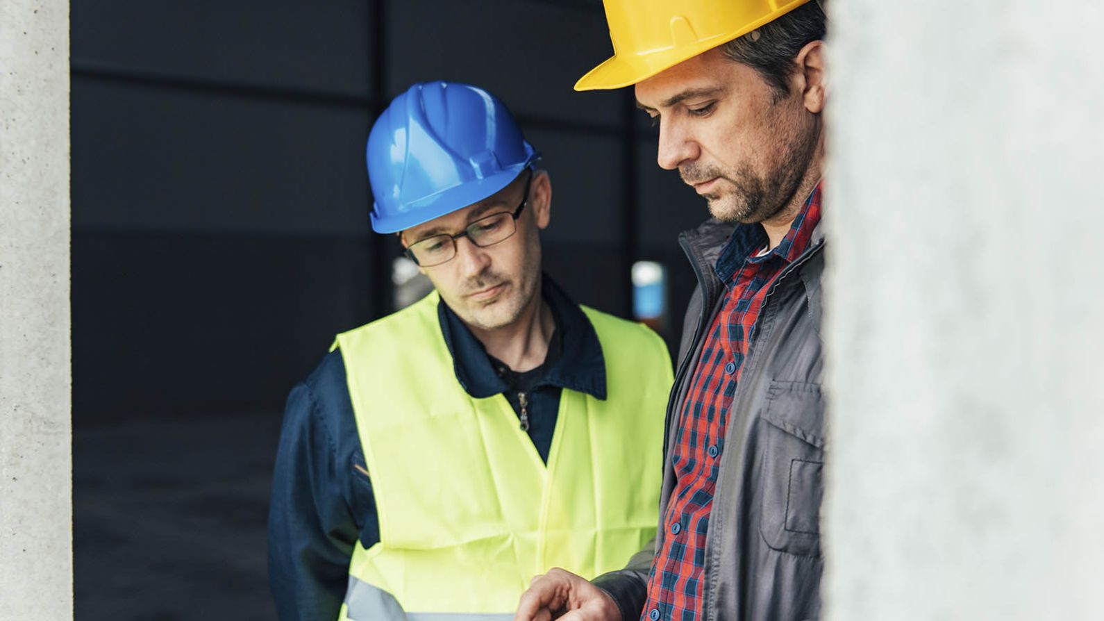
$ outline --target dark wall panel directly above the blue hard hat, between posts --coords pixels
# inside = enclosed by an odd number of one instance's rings
[[[613,53],[603,13],[518,0],[389,4],[388,93],[453,80],[489,88],[519,116],[615,126],[617,94],[575,81]]]

